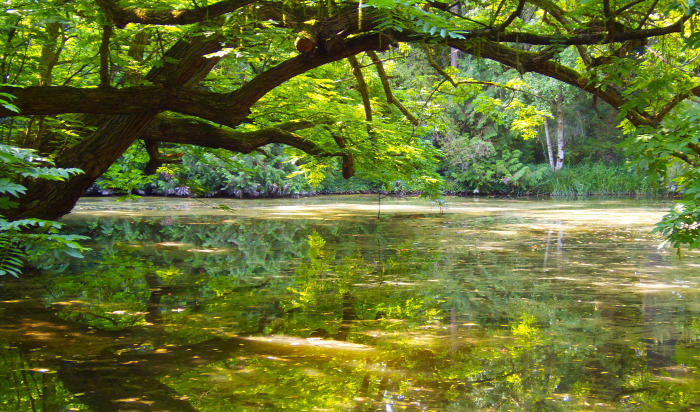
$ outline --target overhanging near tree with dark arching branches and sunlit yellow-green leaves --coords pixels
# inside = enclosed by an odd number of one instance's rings
[[[345,177],[402,176],[436,190],[436,153],[422,139],[437,127],[433,96],[397,87],[384,67],[401,64],[410,45],[428,56],[458,50],[523,78],[538,73],[612,106],[641,167],[653,175],[682,165],[683,207],[660,230],[676,246],[698,245],[694,1],[9,0],[4,8],[3,143],[84,171],[24,182],[11,218],[68,213],[137,139],[152,170],[169,161],[162,143],[242,153],[280,143],[306,165],[339,159]],[[433,63],[456,101],[482,93],[483,82]],[[377,81],[367,82],[370,71]],[[532,108],[520,116],[524,129],[542,122]]]

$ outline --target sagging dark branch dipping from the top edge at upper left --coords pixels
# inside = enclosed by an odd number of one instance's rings
[[[255,0],[222,0],[206,7],[194,9],[148,9],[121,7],[115,0],[95,0],[115,26],[122,29],[129,23],[181,25],[200,23],[231,13]]]

